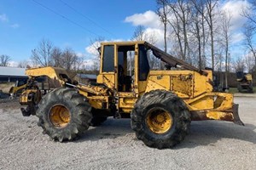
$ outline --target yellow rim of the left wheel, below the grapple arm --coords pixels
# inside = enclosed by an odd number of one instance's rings
[[[70,117],[70,111],[64,105],[54,105],[49,111],[49,121],[55,127],[67,127]]]

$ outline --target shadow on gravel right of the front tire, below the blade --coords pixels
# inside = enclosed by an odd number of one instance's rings
[[[239,139],[256,144],[256,127],[245,123],[245,126],[233,122],[203,121],[192,122],[189,135],[174,149],[195,148],[201,145],[212,145],[220,139]]]

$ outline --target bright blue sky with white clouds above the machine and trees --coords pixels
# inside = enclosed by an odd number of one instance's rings
[[[221,4],[233,14],[236,44],[243,38],[241,27],[246,20],[240,12],[244,5],[249,3],[230,0]],[[0,0],[0,54],[9,55],[15,66],[28,60],[32,49],[45,38],[89,59],[90,40],[96,37],[129,40],[136,26],[162,37],[155,9],[155,0]],[[162,42],[160,38],[156,45]]]

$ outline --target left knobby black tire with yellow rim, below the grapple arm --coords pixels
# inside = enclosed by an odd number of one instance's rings
[[[90,126],[91,107],[83,95],[72,88],[57,88],[38,104],[38,126],[51,139],[72,140]]]

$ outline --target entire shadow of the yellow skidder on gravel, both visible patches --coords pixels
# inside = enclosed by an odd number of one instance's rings
[[[244,127],[232,122],[203,121],[192,122],[189,134],[173,149],[195,148],[201,145],[211,144],[212,146],[220,139],[239,139],[256,144],[256,127],[253,124],[245,124]],[[236,133],[234,133],[236,132]],[[74,142],[96,141],[100,139],[116,139],[129,135],[127,138],[137,140],[134,131],[131,129],[130,119],[114,120],[102,123],[100,127],[90,127],[80,138]]]

